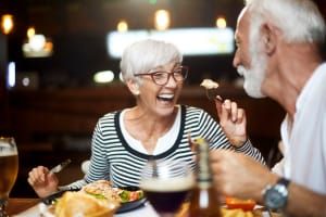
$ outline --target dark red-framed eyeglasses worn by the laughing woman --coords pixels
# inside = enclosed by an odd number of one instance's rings
[[[188,76],[188,71],[189,71],[188,66],[179,66],[173,72],[158,71],[153,73],[139,73],[139,74],[135,74],[135,76],[148,75],[151,76],[154,84],[164,86],[167,84],[171,76],[174,78],[176,82],[184,81]]]

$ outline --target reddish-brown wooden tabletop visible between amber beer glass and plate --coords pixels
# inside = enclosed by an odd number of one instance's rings
[[[9,199],[7,213],[9,214],[9,216],[12,216],[33,207],[39,202],[40,199]]]

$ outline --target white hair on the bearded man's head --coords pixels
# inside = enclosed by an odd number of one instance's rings
[[[311,0],[246,0],[246,5],[251,13],[250,30],[269,22],[287,42],[324,43],[325,22]]]

